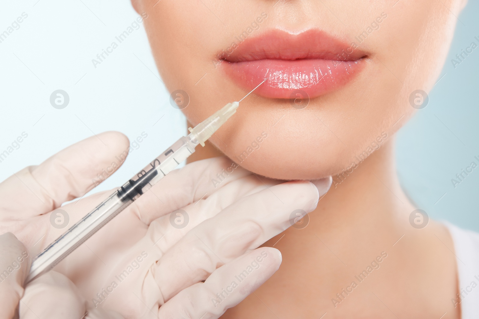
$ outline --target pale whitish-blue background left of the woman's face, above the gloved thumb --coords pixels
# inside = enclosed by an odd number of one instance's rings
[[[122,43],[115,40],[138,17],[129,0],[4,1],[0,33],[23,11],[28,18],[0,43],[0,152],[23,131],[28,138],[0,163],[0,180],[94,133],[120,131],[133,141],[145,132],[139,148],[94,191],[110,189],[185,134],[143,24]],[[113,41],[118,47],[95,68],[91,60]],[[70,97],[63,110],[50,105],[57,89]]]

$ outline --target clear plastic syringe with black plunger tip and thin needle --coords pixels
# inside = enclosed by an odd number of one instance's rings
[[[188,156],[193,154],[194,148],[198,144],[205,146],[205,141],[236,112],[238,106],[239,102],[228,103],[194,128],[190,127],[190,134],[176,141],[165,152],[155,158],[153,162],[148,164],[89,214],[58,237],[56,241],[46,247],[42,253],[38,254],[32,262],[30,274],[26,282],[28,283],[39,275],[46,273],[68,254],[77,249],[108,221],[158,183],[161,178],[180,165]]]

